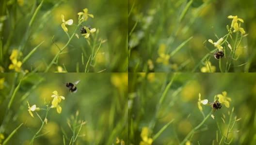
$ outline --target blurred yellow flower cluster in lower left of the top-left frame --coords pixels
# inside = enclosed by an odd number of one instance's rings
[[[22,53],[19,52],[17,49],[14,49],[12,51],[12,54],[10,56],[10,60],[12,61],[12,63],[9,65],[9,70],[15,70],[16,72],[21,71],[22,62],[17,60],[20,56],[22,56]]]

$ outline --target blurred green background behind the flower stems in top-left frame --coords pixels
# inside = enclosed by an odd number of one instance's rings
[[[1,47],[5,47],[8,37],[11,37],[8,52],[1,60],[0,66],[4,68],[4,72],[9,72],[8,66],[11,63],[9,56],[13,49],[17,49],[22,44],[22,39],[26,32],[26,28],[32,17],[33,5],[36,7],[41,0],[0,0],[3,7],[0,12],[1,16],[7,15],[7,19],[1,21]],[[4,8],[6,7],[6,8]],[[68,41],[67,35],[61,27],[61,14],[64,19],[73,19],[73,24],[78,24],[78,12],[88,8],[88,14],[93,14],[94,18],[88,18],[83,22],[83,26],[96,28],[98,33],[97,46],[100,39],[106,40],[102,43],[101,48],[96,56],[96,65],[90,68],[90,72],[127,72],[127,27],[128,27],[128,4],[125,0],[44,0],[42,8],[38,12],[34,24],[30,29],[28,42],[25,44],[23,57],[25,57],[36,45],[45,41],[32,57],[23,64],[23,70],[34,70],[43,72],[46,64],[54,58],[58,52],[58,48],[52,43],[54,42],[63,47]],[[68,33],[71,35],[76,26],[67,26]],[[80,28],[77,32],[80,35]],[[10,36],[11,35],[11,36]],[[90,36],[95,38],[95,34]],[[91,42],[92,43],[92,42]],[[93,45],[93,43],[91,44]],[[58,65],[65,65],[68,72],[77,72],[77,63],[80,72],[84,72],[86,62],[88,61],[91,48],[88,46],[86,39],[80,36],[80,39],[73,38],[67,46],[65,53],[59,57]],[[84,63],[82,64],[81,54],[84,55]],[[6,61],[9,60],[9,61]],[[57,71],[57,66],[53,65],[50,72]]]

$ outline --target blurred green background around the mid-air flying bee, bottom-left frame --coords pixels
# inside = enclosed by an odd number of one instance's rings
[[[4,78],[4,83],[0,84],[1,133],[6,139],[19,124],[24,123],[7,145],[29,145],[41,121],[35,112],[34,118],[30,116],[27,101],[30,106],[36,104],[36,107],[46,108],[45,102],[51,105],[54,90],[65,97],[60,103],[62,112],[58,114],[56,108],[50,109],[48,124],[41,133],[50,132],[36,138],[34,145],[63,145],[64,132],[71,139],[73,134],[67,119],[71,120],[77,111],[79,119],[87,122],[80,131],[84,136],[78,137],[78,145],[112,145],[116,137],[127,142],[127,73],[27,73],[5,115],[14,91],[12,86],[16,87],[22,76],[22,73],[0,73],[0,78]],[[77,80],[80,80],[77,92],[69,92],[64,83]],[[44,110],[38,112],[42,118],[45,113]],[[69,145],[67,139],[66,145]]]

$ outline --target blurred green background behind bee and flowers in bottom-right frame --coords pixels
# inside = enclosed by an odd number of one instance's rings
[[[171,87],[167,89],[166,97],[158,106],[160,97],[171,80],[173,80]],[[226,135],[228,112],[231,112],[234,107],[233,117],[237,116],[237,119],[241,119],[235,123],[234,132],[229,133],[228,142],[233,138],[230,145],[255,145],[255,80],[256,73],[176,73],[176,75],[174,73],[129,73],[128,145],[139,145],[142,141],[143,127],[152,131],[149,137],[153,138],[172,119],[175,119],[174,122],[153,141],[152,145],[178,145],[203,120],[197,105],[198,93],[201,93],[201,100],[208,99],[209,102],[213,102],[214,96],[222,94],[223,91],[226,91],[227,97],[232,99],[230,107],[226,108],[223,105],[221,109],[215,111],[215,119],[209,117],[206,120],[192,136],[191,144],[198,145],[199,141],[200,145],[212,145],[212,142],[214,145],[219,145],[221,133],[217,123]],[[202,105],[202,107],[205,115],[210,113],[209,105]],[[221,117],[224,118],[225,124]],[[218,143],[216,131],[219,135]]]

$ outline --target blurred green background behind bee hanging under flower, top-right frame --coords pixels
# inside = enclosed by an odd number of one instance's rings
[[[128,11],[128,46],[129,72],[200,72],[204,63],[200,60],[214,50],[208,42],[216,42],[227,34],[226,25],[231,25],[228,15],[238,15],[244,20],[247,37],[242,39],[237,50],[238,60],[233,61],[231,72],[256,72],[256,0],[193,0],[184,18],[179,22],[182,11],[190,0],[129,0]],[[235,36],[235,35],[234,35]],[[234,38],[233,36],[233,38]],[[158,50],[164,44],[170,52],[181,43],[186,43],[174,56],[168,60],[168,65],[157,63]],[[204,42],[206,49],[204,47]],[[229,43],[233,43],[229,41]],[[233,45],[232,45],[233,46]],[[225,49],[229,52],[229,48]],[[210,62],[219,70],[219,61],[210,55]],[[227,55],[226,55],[227,56]],[[235,58],[236,58],[235,57]],[[154,69],[149,69],[151,59]],[[228,58],[222,59],[222,66]]]

